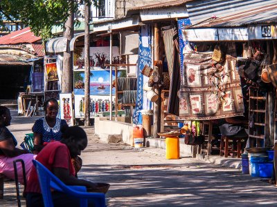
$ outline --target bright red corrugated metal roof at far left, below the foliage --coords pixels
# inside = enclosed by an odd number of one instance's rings
[[[24,28],[0,37],[0,45],[34,43],[35,41],[39,41],[41,39],[41,37],[35,36],[35,34],[30,31],[30,28]]]

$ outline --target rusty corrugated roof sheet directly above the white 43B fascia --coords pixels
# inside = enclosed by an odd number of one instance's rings
[[[261,6],[244,12],[233,12],[224,17],[196,24],[190,28],[247,26],[256,23],[276,23],[277,5]]]

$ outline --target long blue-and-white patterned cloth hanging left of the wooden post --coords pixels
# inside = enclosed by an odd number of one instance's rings
[[[143,91],[143,83],[148,82],[149,77],[145,77],[141,73],[144,66],[152,66],[151,41],[151,26],[141,26],[139,30],[139,70],[137,70],[136,108],[133,115],[134,124],[141,124],[139,123],[139,120],[141,120],[141,110],[151,108],[151,102],[147,99],[146,92]]]

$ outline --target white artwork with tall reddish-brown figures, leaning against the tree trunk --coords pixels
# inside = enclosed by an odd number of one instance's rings
[[[71,93],[60,93],[60,117],[64,119],[69,126],[73,126]]]

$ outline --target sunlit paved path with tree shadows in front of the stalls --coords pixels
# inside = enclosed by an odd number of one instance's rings
[[[162,150],[100,144],[93,128],[85,130],[89,146],[82,152],[78,175],[111,184],[108,206],[277,206],[275,186],[242,175],[240,170],[190,157],[168,160],[159,155]],[[10,182],[5,189],[0,206],[17,206],[15,185]]]

